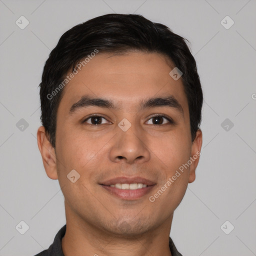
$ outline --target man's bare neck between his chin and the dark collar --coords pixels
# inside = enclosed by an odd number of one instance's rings
[[[61,240],[64,256],[171,256],[172,216],[157,228],[139,234],[116,234],[77,216],[65,203],[66,231]]]

